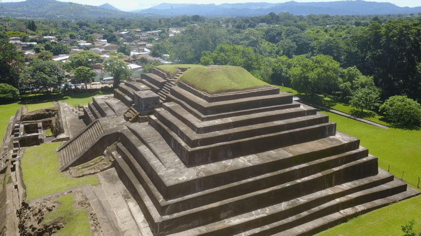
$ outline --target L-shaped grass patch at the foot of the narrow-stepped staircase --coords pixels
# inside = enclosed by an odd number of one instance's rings
[[[73,179],[57,173],[58,153],[53,150],[59,146],[60,143],[46,143],[26,149],[21,163],[26,200],[98,183],[96,176]]]

